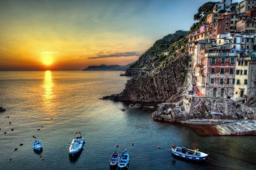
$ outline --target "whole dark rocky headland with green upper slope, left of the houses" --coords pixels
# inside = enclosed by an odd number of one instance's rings
[[[183,87],[186,68],[190,57],[187,55],[186,31],[177,31],[158,40],[139,60],[126,71],[134,76],[128,80],[121,94],[106,96],[104,99],[130,100],[141,102],[164,102]],[[176,42],[172,42],[178,40]],[[169,51],[170,55],[163,55]]]

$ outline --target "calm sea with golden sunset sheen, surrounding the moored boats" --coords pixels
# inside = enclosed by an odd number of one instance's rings
[[[198,136],[188,126],[154,122],[151,112],[129,110],[129,103],[99,100],[122,91],[129,78],[119,74],[0,72],[0,107],[7,109],[0,112],[0,169],[109,170],[111,153],[125,149],[131,158],[129,170],[230,169],[209,162],[183,161],[169,150],[157,149],[170,149],[172,144],[199,148],[225,164],[256,169],[256,136]],[[72,158],[68,148],[78,131],[86,143]],[[32,149],[33,135],[44,144],[41,158]]]

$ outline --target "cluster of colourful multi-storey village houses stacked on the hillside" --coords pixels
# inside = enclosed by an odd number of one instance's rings
[[[233,11],[232,11],[233,9]],[[256,0],[216,3],[189,34],[194,95],[256,105]]]

